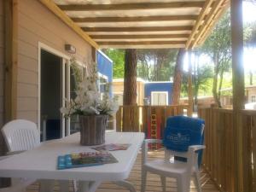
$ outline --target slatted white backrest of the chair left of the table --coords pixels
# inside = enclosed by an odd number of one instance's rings
[[[37,125],[25,119],[12,120],[2,128],[9,152],[29,150],[40,144]]]

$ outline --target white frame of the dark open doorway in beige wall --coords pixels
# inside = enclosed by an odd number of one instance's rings
[[[49,47],[46,44],[43,44],[41,42],[38,42],[38,131],[40,131],[40,126],[41,126],[41,50],[44,49],[46,51],[48,51],[49,53],[53,54],[53,55],[57,55],[59,57],[62,58],[62,82],[61,82],[61,90],[62,90],[62,106],[65,106],[65,96],[67,94],[67,99],[69,99],[70,97],[70,93],[65,93],[65,90],[70,90],[70,83],[69,81],[67,81],[67,89],[66,89],[66,73],[65,73],[65,67],[66,67],[66,63],[67,63],[67,69],[69,69],[70,64],[70,56],[63,54],[61,51],[53,49],[51,47]],[[69,79],[69,78],[68,78]],[[67,80],[68,80],[67,79]],[[65,137],[65,119],[64,116],[62,115],[61,118],[62,122],[61,122],[61,137]],[[67,122],[67,134],[69,135],[69,121]]]

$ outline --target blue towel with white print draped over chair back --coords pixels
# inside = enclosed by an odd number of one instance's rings
[[[190,145],[202,145],[204,143],[204,125],[202,119],[185,116],[174,116],[166,120],[163,144],[174,152],[187,152]],[[177,160],[182,157],[175,154]],[[182,154],[182,153],[180,153]],[[198,164],[201,164],[202,150],[198,152]]]

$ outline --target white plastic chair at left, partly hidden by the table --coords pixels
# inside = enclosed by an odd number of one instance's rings
[[[2,128],[4,140],[9,149],[9,154],[18,151],[30,150],[40,144],[40,135],[37,125],[25,119],[12,120]],[[7,156],[8,157],[8,156]],[[3,158],[2,158],[3,159]],[[26,178],[12,178],[12,186],[2,191],[26,191],[26,186],[36,180]]]

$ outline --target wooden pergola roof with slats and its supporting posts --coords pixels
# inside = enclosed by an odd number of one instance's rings
[[[225,9],[231,10],[233,111],[230,127],[234,133],[236,183],[232,191],[247,192],[247,176],[252,169],[250,145],[244,137],[241,112],[244,108],[244,70],[242,63],[242,0],[38,0],[84,38],[95,49],[185,48],[188,51],[204,42]],[[17,18],[18,0],[8,0],[5,49],[5,111],[15,117],[17,96]],[[191,71],[189,105],[191,106]],[[256,115],[255,115],[256,116]],[[210,117],[211,124],[214,117]],[[219,137],[220,138],[220,137]],[[248,139],[247,139],[248,138]],[[230,148],[228,148],[230,150]],[[256,151],[256,150],[255,150]],[[256,152],[255,152],[256,153]],[[254,155],[253,155],[254,157]],[[214,157],[215,158],[215,157]],[[249,163],[248,163],[249,162]],[[212,166],[213,170],[218,167]],[[230,165],[228,165],[230,169]],[[255,169],[253,169],[255,170]]]

